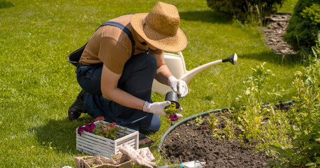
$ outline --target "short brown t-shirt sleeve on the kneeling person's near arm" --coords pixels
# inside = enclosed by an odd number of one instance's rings
[[[101,38],[98,57],[110,71],[121,74],[130,55],[123,45],[114,38],[106,36]]]

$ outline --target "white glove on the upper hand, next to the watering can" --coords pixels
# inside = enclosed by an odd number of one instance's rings
[[[179,97],[183,98],[188,94],[188,86],[184,80],[177,79],[175,76],[168,78],[168,85],[171,87],[173,92],[177,92]]]

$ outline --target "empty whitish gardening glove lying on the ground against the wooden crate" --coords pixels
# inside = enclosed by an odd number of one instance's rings
[[[124,143],[122,146],[120,146],[119,151],[122,153],[125,153],[126,155],[129,155],[131,160],[136,163],[137,165],[143,165],[145,167],[155,167],[155,162],[150,162],[149,160],[143,158],[136,150],[134,150],[131,146]]]

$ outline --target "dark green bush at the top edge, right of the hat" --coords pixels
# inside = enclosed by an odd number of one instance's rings
[[[235,15],[240,20],[247,18],[251,8],[258,10],[258,15],[263,18],[270,13],[275,13],[277,5],[281,6],[284,0],[207,0],[208,6],[214,11]]]

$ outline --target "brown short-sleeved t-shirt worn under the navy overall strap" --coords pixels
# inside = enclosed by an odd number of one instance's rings
[[[136,31],[130,24],[133,15],[122,15],[112,19],[112,22],[119,22],[131,31],[133,40],[136,43],[134,55],[147,52],[148,46],[143,45],[136,37]],[[80,58],[81,64],[98,64],[103,62],[110,71],[120,74],[124,64],[131,57],[132,43],[129,36],[119,27],[106,25],[100,27],[87,43]]]

